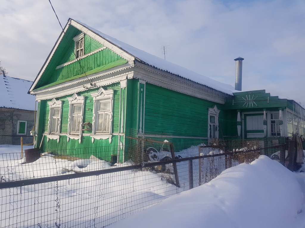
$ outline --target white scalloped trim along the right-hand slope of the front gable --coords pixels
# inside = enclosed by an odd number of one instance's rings
[[[113,43],[110,43],[106,39],[104,39],[102,36],[94,33],[90,29],[86,28],[85,26],[81,25],[80,23],[71,20],[71,25],[75,28],[81,30],[86,35],[90,36],[93,40],[96,40],[97,42],[101,43],[102,45],[105,45],[107,48],[112,50],[114,53],[118,54],[120,57],[126,59],[127,61],[133,61],[135,60],[135,57],[128,54],[126,51],[120,49],[119,47],[115,46]]]

